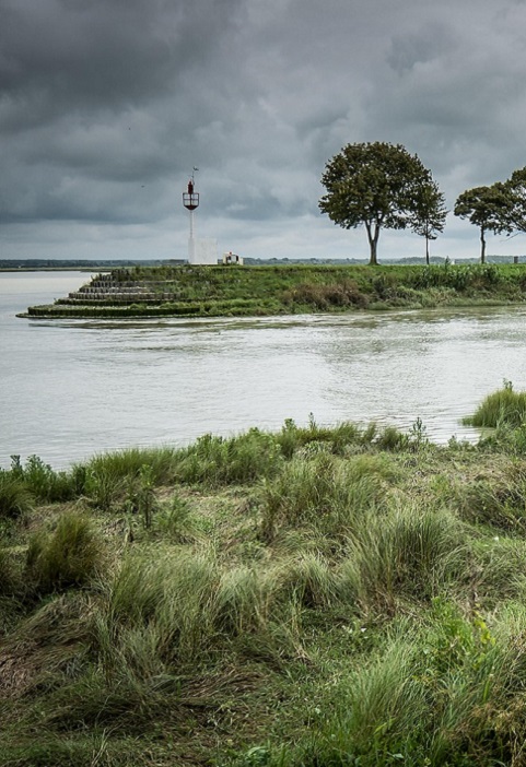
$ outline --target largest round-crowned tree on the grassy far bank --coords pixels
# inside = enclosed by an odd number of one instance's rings
[[[377,263],[382,227],[405,229],[416,211],[420,185],[429,176],[417,155],[401,144],[348,144],[322,176],[327,193],[319,208],[346,229],[365,226],[370,263]]]

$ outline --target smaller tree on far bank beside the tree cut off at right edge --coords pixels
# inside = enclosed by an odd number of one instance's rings
[[[514,197],[509,182],[466,189],[455,202],[454,213],[468,219],[480,229],[480,262],[486,263],[486,233],[513,232],[511,223]]]

